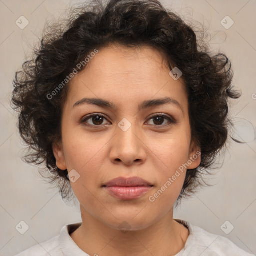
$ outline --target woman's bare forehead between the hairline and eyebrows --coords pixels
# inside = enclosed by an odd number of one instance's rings
[[[118,104],[170,96],[186,105],[184,83],[169,71],[162,53],[153,47],[108,46],[72,78],[68,101],[99,97]]]

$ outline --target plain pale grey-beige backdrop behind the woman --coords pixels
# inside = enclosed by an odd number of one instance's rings
[[[23,148],[16,114],[10,108],[12,78],[38,42],[46,20],[58,17],[67,0],[0,0],[0,255],[14,255],[57,235],[65,224],[80,222],[78,207],[62,201],[37,172],[21,160]],[[230,58],[233,84],[242,91],[232,101],[230,114],[235,121],[233,135],[247,142],[229,139],[224,163],[209,183],[174,212],[180,218],[208,232],[222,235],[250,253],[256,253],[256,1],[255,0],[161,0],[187,22],[191,18],[208,27],[210,46]],[[20,29],[15,21],[25,16],[29,24]],[[234,24],[226,29],[220,21],[230,16]],[[229,22],[229,21],[228,21]],[[223,155],[222,155],[223,156]],[[15,226],[25,221],[29,229],[20,234]],[[225,234],[221,225],[228,220],[234,229]],[[228,223],[226,228],[230,228]]]

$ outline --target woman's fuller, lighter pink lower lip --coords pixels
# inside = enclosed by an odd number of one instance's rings
[[[122,200],[139,198],[150,190],[151,186],[106,186],[108,193]]]

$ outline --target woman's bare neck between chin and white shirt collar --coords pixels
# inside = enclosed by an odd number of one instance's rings
[[[71,238],[89,255],[175,255],[189,231],[173,220],[173,209],[152,225],[132,231],[113,229],[81,208],[82,225]]]

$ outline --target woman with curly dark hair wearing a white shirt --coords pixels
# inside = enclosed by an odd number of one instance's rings
[[[110,0],[53,28],[16,73],[27,160],[71,190],[81,223],[24,255],[251,255],[173,219],[225,145],[232,71],[156,0]],[[208,172],[207,172],[208,173]]]

